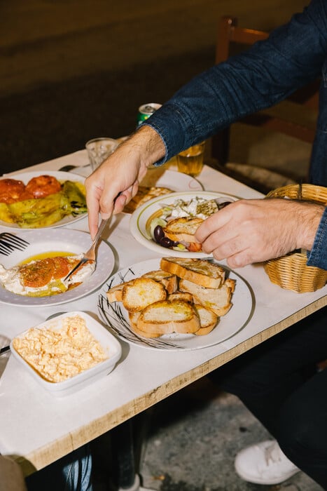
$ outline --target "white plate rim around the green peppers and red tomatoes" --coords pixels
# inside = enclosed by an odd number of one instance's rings
[[[61,172],[60,170],[45,170],[44,172],[34,171],[34,172],[19,173],[15,175],[4,175],[1,177],[1,179],[16,179],[24,182],[24,184],[27,184],[27,182],[33,179],[33,177],[39,177],[40,175],[51,175],[55,177],[58,181],[76,181],[76,182],[83,182],[83,184],[85,181],[85,177],[83,177],[83,175],[73,174],[69,172]],[[6,227],[7,229],[15,229],[15,230],[53,229],[55,227],[62,227],[63,225],[66,225],[68,223],[77,222],[78,220],[81,220],[81,218],[85,217],[85,215],[86,213],[77,215],[77,217],[73,217],[73,215],[67,215],[67,217],[62,218],[62,220],[59,220],[59,222],[55,222],[54,224],[49,225],[48,227],[37,227],[35,229],[34,228],[22,229],[22,227],[19,227],[19,225],[15,223],[4,222],[3,220],[0,220],[0,226]]]

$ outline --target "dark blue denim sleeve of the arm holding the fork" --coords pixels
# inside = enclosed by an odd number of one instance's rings
[[[267,40],[196,76],[144,123],[165,142],[156,165],[316,79],[326,55],[327,2],[313,0]]]

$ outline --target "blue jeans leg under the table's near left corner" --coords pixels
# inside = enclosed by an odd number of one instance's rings
[[[92,457],[84,445],[26,479],[28,491],[92,491]]]

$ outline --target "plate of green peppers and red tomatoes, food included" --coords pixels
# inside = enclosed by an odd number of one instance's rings
[[[0,179],[0,226],[9,229],[62,227],[88,209],[85,177],[60,171],[26,172]]]

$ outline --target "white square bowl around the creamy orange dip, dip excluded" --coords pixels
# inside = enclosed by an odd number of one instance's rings
[[[32,366],[29,365],[29,363],[27,363],[24,358],[20,356],[20,354],[18,354],[18,351],[16,351],[13,347],[13,340],[11,341],[11,353],[13,356],[19,361],[19,363],[22,363],[26,370],[32,375],[32,377],[34,377],[34,379],[36,379],[37,382],[39,382],[39,384],[41,384],[41,386],[43,386],[44,389],[50,391],[50,393],[56,397],[73,394],[76,390],[83,389],[83,387],[90,384],[90,382],[94,382],[96,379],[99,379],[104,375],[108,375],[113,370],[121,356],[122,350],[118,339],[116,339],[116,337],[106,330],[101,323],[95,321],[94,318],[83,311],[67,312],[52,318],[49,321],[36,325],[35,327],[39,329],[50,328],[53,330],[59,330],[62,328],[62,321],[64,318],[74,316],[80,316],[85,320],[86,327],[88,330],[90,330],[95,339],[97,339],[99,344],[101,344],[104,352],[108,354],[108,358],[100,363],[97,363],[97,365],[93,366],[92,368],[78,373],[78,375],[63,380],[62,382],[49,382],[48,380],[44,379],[39,372],[34,370],[34,368],[32,368]],[[26,332],[27,330],[21,332],[20,335],[16,336],[16,338],[22,337],[26,334]]]

